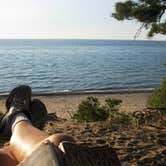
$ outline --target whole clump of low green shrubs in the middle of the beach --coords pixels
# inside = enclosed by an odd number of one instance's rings
[[[101,105],[97,98],[87,97],[86,100],[79,104],[77,112],[73,119],[80,122],[93,122],[111,120],[121,124],[133,124],[135,118],[131,113],[119,112],[119,105],[122,100],[108,98],[106,104]]]

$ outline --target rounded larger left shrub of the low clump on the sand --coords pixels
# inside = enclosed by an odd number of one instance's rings
[[[77,113],[73,115],[73,119],[78,121],[103,121],[109,117],[109,111],[103,106],[100,106],[100,102],[97,98],[87,97],[86,100],[79,104]]]

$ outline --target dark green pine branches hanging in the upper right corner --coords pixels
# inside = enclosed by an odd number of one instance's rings
[[[155,34],[166,34],[166,20],[164,14],[166,10],[166,0],[127,0],[115,4],[114,18],[119,21],[137,20],[141,23],[134,38],[137,38],[142,28],[150,29],[148,37]]]

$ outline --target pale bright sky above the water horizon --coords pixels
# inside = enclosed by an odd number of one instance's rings
[[[133,39],[140,24],[112,18],[117,1],[0,0],[0,38]],[[144,30],[138,39],[147,40],[146,34]]]

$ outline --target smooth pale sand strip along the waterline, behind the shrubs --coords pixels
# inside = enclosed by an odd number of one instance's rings
[[[34,95],[33,98],[39,98],[44,102],[49,113],[56,113],[58,117],[70,119],[70,116],[78,109],[79,103],[88,96],[94,96],[103,104],[107,98],[121,99],[122,104],[120,110],[122,111],[141,111],[146,107],[146,100],[150,92],[131,92],[131,93],[88,93],[88,94],[47,94]],[[6,96],[1,96],[0,110],[5,111],[4,103]]]

